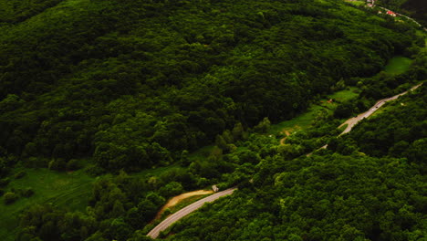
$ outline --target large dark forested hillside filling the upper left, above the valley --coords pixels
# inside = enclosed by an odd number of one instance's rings
[[[236,123],[292,118],[414,37],[334,1],[2,3],[1,153],[58,170],[176,162]]]

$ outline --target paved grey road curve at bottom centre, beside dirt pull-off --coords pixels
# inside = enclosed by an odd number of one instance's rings
[[[159,236],[161,231],[164,231],[166,228],[168,228],[170,225],[172,225],[176,221],[180,220],[185,215],[189,215],[189,214],[193,213],[195,210],[202,207],[203,204],[205,204],[205,203],[211,203],[211,202],[215,201],[216,199],[223,197],[224,195],[233,194],[233,192],[236,189],[237,188],[230,188],[230,189],[224,190],[223,192],[212,194],[210,196],[207,196],[207,197],[195,202],[194,204],[190,204],[190,205],[182,208],[180,211],[176,212],[173,215],[170,215],[168,218],[163,220],[159,225],[155,226],[150,231],[150,233],[148,233],[147,236],[150,236],[151,238],[157,238],[157,236]]]

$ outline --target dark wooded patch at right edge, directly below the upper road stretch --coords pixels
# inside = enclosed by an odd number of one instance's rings
[[[425,137],[427,136],[427,95],[423,85],[410,96],[392,102],[392,110],[380,113],[376,118],[360,122],[358,128],[351,131],[338,143],[338,149],[345,141],[353,141],[360,152],[372,156],[390,155],[407,157],[411,162],[425,164]],[[337,150],[338,151],[338,150]]]

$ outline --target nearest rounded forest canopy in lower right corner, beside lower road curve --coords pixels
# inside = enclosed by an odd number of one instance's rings
[[[175,225],[168,240],[407,240],[424,235],[422,176],[404,159],[328,155],[272,161],[261,162],[249,188]]]

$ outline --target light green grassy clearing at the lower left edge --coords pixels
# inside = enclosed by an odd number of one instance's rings
[[[0,236],[2,240],[14,240],[19,214],[34,204],[54,204],[66,210],[85,210],[92,192],[94,178],[82,171],[58,173],[48,169],[20,169],[26,175],[12,180],[5,188],[31,188],[35,194],[29,198],[20,197],[16,203],[5,205],[0,198]]]

